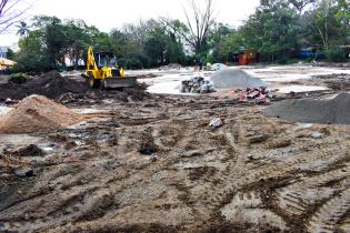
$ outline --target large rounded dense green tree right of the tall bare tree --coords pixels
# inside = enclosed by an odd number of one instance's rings
[[[268,61],[283,61],[299,48],[299,14],[292,8],[276,2],[262,4],[240,28],[242,45],[257,49]]]

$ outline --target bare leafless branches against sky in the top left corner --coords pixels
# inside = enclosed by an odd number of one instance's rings
[[[12,24],[21,21],[32,4],[32,0],[0,0],[0,33],[3,33]]]

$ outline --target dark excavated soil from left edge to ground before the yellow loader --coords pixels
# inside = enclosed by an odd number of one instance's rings
[[[79,75],[80,77],[80,75]],[[101,103],[106,99],[119,101],[140,101],[149,98],[146,87],[138,84],[136,88],[123,90],[92,90],[88,82],[77,77],[62,77],[58,71],[51,71],[33,77],[26,83],[0,83],[0,101],[7,98],[21,100],[31,94],[44,95],[62,103]]]

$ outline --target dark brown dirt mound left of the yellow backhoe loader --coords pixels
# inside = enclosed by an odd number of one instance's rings
[[[58,71],[51,71],[28,80],[26,83],[13,82],[0,84],[0,99],[23,99],[31,94],[40,94],[54,99],[63,93],[83,93],[89,89],[84,82],[61,77]]]

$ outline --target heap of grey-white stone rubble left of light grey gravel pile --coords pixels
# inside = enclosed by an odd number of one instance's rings
[[[180,88],[181,93],[211,93],[214,91],[212,82],[206,80],[203,77],[193,77],[184,80]]]

